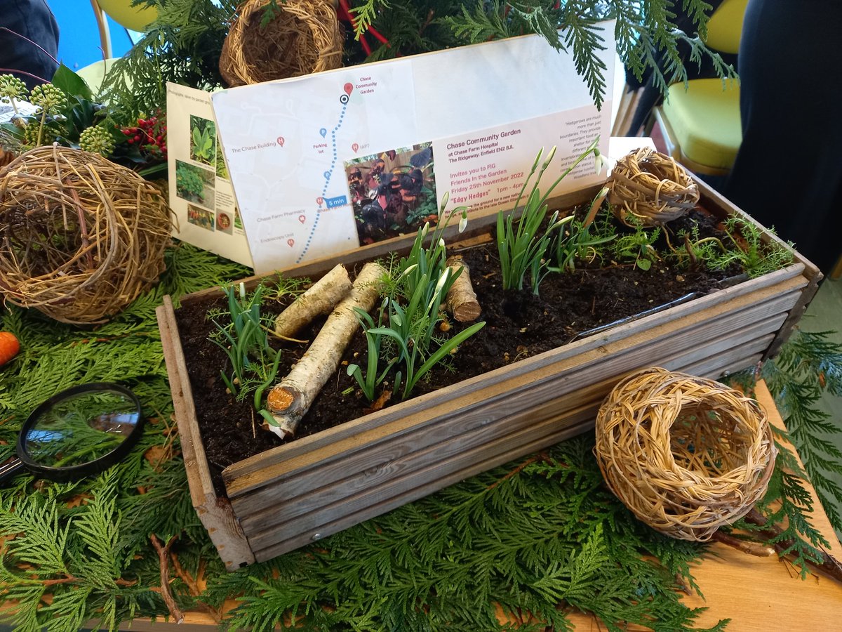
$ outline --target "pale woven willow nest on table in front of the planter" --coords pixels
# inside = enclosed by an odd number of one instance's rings
[[[764,494],[775,446],[754,399],[654,367],[624,379],[603,402],[596,456],[610,489],[642,522],[704,542]]]

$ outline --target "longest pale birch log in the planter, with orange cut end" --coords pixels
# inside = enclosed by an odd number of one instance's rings
[[[312,345],[292,367],[290,373],[274,385],[266,401],[278,426],[269,426],[281,439],[294,435],[301,417],[339,365],[339,360],[360,323],[354,307],[370,312],[380,293],[380,281],[386,270],[368,263],[354,280],[354,287],[328,316]]]

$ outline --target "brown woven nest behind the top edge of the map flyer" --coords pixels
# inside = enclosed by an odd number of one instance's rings
[[[219,70],[229,86],[299,77],[342,66],[343,37],[330,0],[285,0],[261,26],[266,0],[237,8]]]

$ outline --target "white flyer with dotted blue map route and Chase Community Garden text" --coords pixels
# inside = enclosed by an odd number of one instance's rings
[[[606,153],[610,131],[610,101],[596,110],[572,57],[537,35],[212,99],[258,274],[414,233],[445,193],[472,213],[507,208],[541,147],[558,147],[552,183],[594,137]],[[604,178],[583,163],[557,192]]]

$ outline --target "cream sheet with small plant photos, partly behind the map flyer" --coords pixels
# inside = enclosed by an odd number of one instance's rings
[[[173,237],[253,265],[216,133],[210,94],[167,84],[169,202]]]

